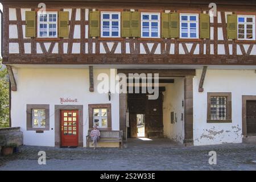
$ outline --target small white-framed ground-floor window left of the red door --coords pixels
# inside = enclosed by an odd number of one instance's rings
[[[32,109],[32,127],[46,127],[45,109]]]

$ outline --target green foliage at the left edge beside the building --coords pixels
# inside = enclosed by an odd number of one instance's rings
[[[0,60],[0,127],[9,127],[9,79]]]

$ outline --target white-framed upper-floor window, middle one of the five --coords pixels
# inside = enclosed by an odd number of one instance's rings
[[[141,13],[141,37],[160,38],[160,13]]]

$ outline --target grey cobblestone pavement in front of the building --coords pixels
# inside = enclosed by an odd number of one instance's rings
[[[46,165],[38,152],[46,151]],[[217,152],[210,165],[209,151]],[[167,139],[130,139],[118,148],[55,148],[21,146],[19,152],[0,157],[1,170],[256,170],[255,144],[183,146]]]

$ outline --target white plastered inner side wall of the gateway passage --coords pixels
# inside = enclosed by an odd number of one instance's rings
[[[184,78],[177,77],[174,84],[166,86],[163,101],[163,129],[164,137],[176,142],[183,143],[184,140],[184,118],[181,121],[181,113],[184,113],[182,101],[184,100]],[[171,123],[171,112],[174,111],[174,123]]]

